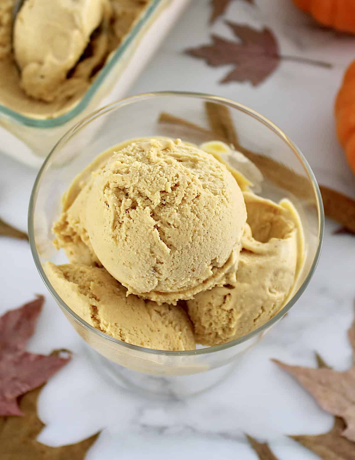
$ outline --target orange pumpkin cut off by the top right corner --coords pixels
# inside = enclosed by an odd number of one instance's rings
[[[355,34],[355,0],[293,0],[316,21],[343,32]]]

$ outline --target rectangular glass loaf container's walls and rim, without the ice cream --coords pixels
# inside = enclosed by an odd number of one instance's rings
[[[152,0],[111,53],[83,98],[51,119],[21,115],[0,104],[0,153],[40,167],[53,145],[71,126],[99,105],[124,97],[155,50],[191,0]],[[94,136],[94,132],[89,134]]]

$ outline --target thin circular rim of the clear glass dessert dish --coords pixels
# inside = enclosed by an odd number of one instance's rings
[[[306,279],[303,281],[302,285],[298,289],[298,291],[294,294],[292,299],[287,302],[287,304],[279,311],[275,316],[273,316],[269,321],[267,321],[265,324],[260,326],[259,328],[255,329],[254,331],[243,335],[242,337],[239,337],[238,339],[231,340],[227,343],[224,343],[222,345],[214,345],[211,347],[207,348],[201,348],[198,350],[186,350],[186,351],[164,351],[164,350],[155,350],[151,348],[145,348],[141,347],[139,345],[132,345],[126,342],[122,342],[119,339],[115,339],[114,337],[111,337],[98,329],[94,328],[91,326],[88,322],[84,321],[80,316],[78,316],[74,311],[71,310],[71,308],[59,297],[57,294],[56,290],[52,287],[52,284],[48,280],[46,273],[44,272],[42,268],[42,264],[40,262],[40,257],[37,252],[37,248],[35,245],[34,241],[34,204],[37,198],[38,190],[40,187],[40,182],[42,178],[42,173],[46,169],[47,163],[50,161],[52,155],[54,152],[56,152],[57,147],[60,147],[60,144],[63,142],[66,142],[68,138],[72,136],[72,134],[77,130],[83,127],[84,125],[90,123],[90,121],[96,119],[97,117],[104,115],[105,113],[108,113],[112,110],[119,109],[121,106],[125,106],[127,104],[136,104],[139,101],[146,100],[149,98],[155,98],[155,97],[167,97],[167,96],[176,96],[176,97],[189,97],[189,98],[199,98],[199,99],[204,99],[204,100],[209,100],[213,102],[220,102],[223,104],[229,105],[229,107],[232,107],[234,109],[240,110],[241,112],[245,113],[246,115],[252,116],[254,119],[260,121],[265,125],[266,127],[269,127],[275,134],[277,134],[280,138],[282,138],[286,144],[291,148],[293,153],[296,155],[298,158],[298,161],[302,164],[302,166],[305,168],[306,173],[308,174],[309,180],[313,186],[313,190],[315,192],[315,197],[317,201],[317,213],[319,216],[319,222],[318,222],[318,243],[317,243],[317,250],[315,252],[315,257],[313,259],[312,265],[309,269],[309,273],[306,277]],[[96,110],[93,112],[91,115],[86,116],[84,119],[82,119],[79,123],[77,123],[74,127],[72,127],[64,136],[57,142],[57,144],[53,147],[49,155],[46,157],[46,160],[43,162],[42,167],[40,168],[40,171],[34,181],[34,186],[32,189],[32,193],[30,196],[29,200],[29,213],[28,213],[28,230],[29,230],[29,243],[31,247],[31,252],[32,256],[34,258],[34,263],[37,267],[37,270],[40,273],[40,276],[45,283],[47,289],[49,292],[52,294],[54,299],[57,301],[57,303],[63,308],[64,311],[66,311],[70,316],[73,317],[73,319],[79,323],[82,327],[85,329],[91,331],[94,334],[97,334],[101,336],[103,339],[109,340],[110,342],[113,342],[117,345],[126,347],[130,350],[135,350],[135,351],[141,351],[141,352],[146,352],[149,354],[153,355],[169,355],[169,356],[192,356],[192,355],[204,355],[204,354],[209,354],[209,353],[214,353],[216,351],[221,351],[221,350],[226,350],[227,348],[233,347],[235,345],[239,345],[243,342],[245,342],[248,339],[251,339],[255,335],[259,334],[263,330],[269,328],[275,322],[277,322],[279,319],[281,319],[282,316],[284,316],[291,308],[292,306],[297,302],[297,300],[301,297],[303,294],[304,290],[308,286],[316,266],[318,265],[319,257],[321,255],[321,248],[322,248],[322,243],[323,243],[323,234],[324,234],[324,209],[323,209],[323,203],[322,203],[322,198],[321,198],[321,192],[319,190],[317,181],[315,179],[315,175],[313,171],[311,170],[307,160],[304,158],[303,154],[301,151],[296,147],[295,144],[286,136],[286,134],[279,128],[277,127],[274,123],[269,121],[266,117],[263,115],[260,115],[258,112],[256,112],[253,109],[249,109],[243,104],[239,104],[237,102],[234,102],[230,99],[227,98],[222,98],[219,96],[213,96],[211,94],[205,94],[205,93],[198,93],[198,92],[180,92],[180,91],[162,91],[162,92],[150,92],[150,93],[143,93],[143,94],[137,94],[136,96],[131,96],[128,98],[120,99],[119,101],[116,101],[112,104],[108,104],[104,106],[101,109]]]

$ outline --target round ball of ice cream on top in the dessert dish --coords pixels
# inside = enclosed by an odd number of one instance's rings
[[[86,230],[129,293],[176,303],[235,277],[246,207],[212,155],[179,139],[132,142],[97,173]]]

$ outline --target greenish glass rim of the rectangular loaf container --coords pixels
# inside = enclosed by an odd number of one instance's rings
[[[109,62],[103,66],[103,69],[100,70],[96,79],[90,85],[89,89],[85,92],[84,96],[80,101],[68,112],[63,115],[51,119],[40,119],[32,118],[26,115],[21,115],[16,110],[9,109],[5,105],[0,104],[0,114],[6,115],[11,119],[15,120],[17,123],[25,126],[36,127],[36,128],[54,128],[67,123],[76,116],[80,115],[86,107],[90,104],[92,98],[96,94],[97,90],[109,75],[110,71],[114,68],[115,64],[122,57],[123,53],[126,52],[127,48],[131,45],[132,41],[136,38],[143,26],[148,22],[150,17],[153,15],[155,10],[161,3],[165,0],[152,0],[152,3],[148,8],[143,12],[142,16],[138,19],[137,23],[133,26],[131,31],[128,32],[126,38],[122,41],[120,46],[113,52]]]

